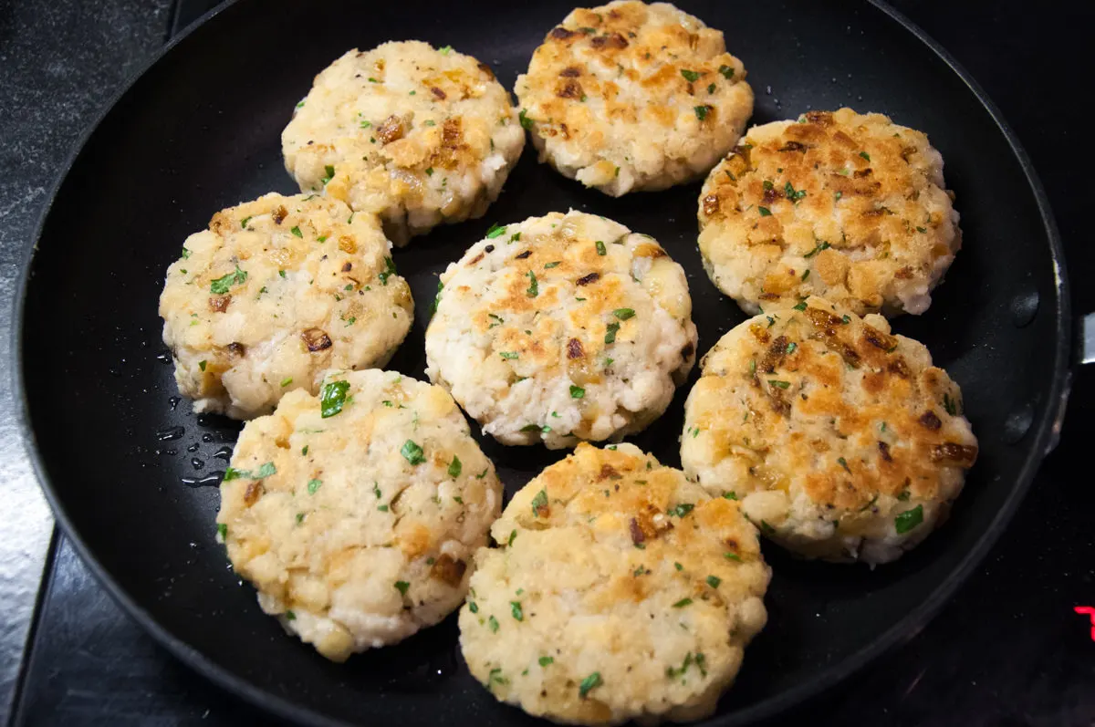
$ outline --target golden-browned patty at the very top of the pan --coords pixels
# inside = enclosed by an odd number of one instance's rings
[[[705,174],[752,114],[745,79],[722,32],[626,0],[567,15],[516,90],[540,161],[619,197]]]

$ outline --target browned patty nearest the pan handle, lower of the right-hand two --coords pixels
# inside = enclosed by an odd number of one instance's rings
[[[681,462],[806,557],[896,559],[977,459],[961,391],[927,348],[821,298],[758,315],[704,356]]]

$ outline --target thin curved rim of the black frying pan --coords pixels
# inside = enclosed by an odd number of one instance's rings
[[[65,184],[65,181],[68,178],[68,175],[77,160],[83,154],[88,141],[99,129],[104,119],[117,106],[117,104],[129,93],[139,79],[142,78],[154,65],[159,64],[177,45],[185,42],[198,27],[203,26],[215,16],[221,14],[228,8],[235,5],[238,2],[239,0],[227,0],[226,2],[222,2],[209,12],[205,13],[198,20],[194,21],[182,33],[165,43],[163,47],[161,47],[146,64],[143,64],[138,71],[131,74],[120,86],[117,93],[115,93],[111,100],[104,104],[104,106],[96,114],[93,123],[91,123],[81,134],[79,140],[73,146],[72,151],[60,165],[58,175],[50,188],[48,201],[43,207],[35,223],[33,233],[34,244],[26,250],[21,263],[19,288],[14,299],[12,316],[13,325],[10,334],[10,350],[12,357],[11,383],[13,384],[12,399],[15,404],[14,414],[16,427],[20,434],[20,440],[25,449],[27,461],[31,464],[32,472],[39,488],[45,495],[46,500],[49,503],[56,522],[60,526],[62,532],[72,543],[73,549],[79,554],[84,566],[93,574],[99,584],[106,590],[107,593],[111,595],[115,602],[122,605],[130,618],[137,621],[137,623],[146,632],[151,634],[155,641],[164,646],[168,651],[186,663],[189,668],[201,673],[218,688],[243,697],[245,701],[260,709],[264,709],[278,717],[298,722],[300,724],[322,727],[351,727],[350,723],[324,716],[284,696],[276,695],[266,689],[257,686],[247,679],[238,676],[235,672],[214,662],[214,660],[204,653],[171,634],[146,608],[140,605],[125,589],[122,588],[120,585],[115,581],[113,576],[107,573],[106,568],[102,564],[99,563],[97,558],[93,556],[91,550],[81,539],[79,532],[73,527],[67,510],[61,505],[61,498],[54,491],[53,483],[46,476],[45,466],[37,448],[36,437],[31,426],[30,406],[25,393],[25,374],[23,370],[23,330],[25,323],[24,315],[26,292],[31,281],[31,268],[34,263],[34,255],[38,249],[38,243],[42,240],[42,233],[46,221],[53,210],[54,203],[56,201],[57,193]],[[1049,388],[1046,409],[1041,417],[1030,427],[1030,432],[1027,435],[1031,437],[1031,440],[1028,445],[1026,461],[1015,477],[1015,486],[1013,487],[1012,493],[1003,501],[1000,509],[996,511],[995,517],[984,530],[981,538],[977,541],[977,544],[965,555],[960,564],[952,570],[952,573],[938,586],[936,586],[933,591],[931,591],[923,602],[909,611],[900,621],[890,626],[890,628],[888,628],[874,643],[845,657],[837,665],[828,667],[811,679],[783,693],[764,699],[731,714],[714,716],[701,723],[696,723],[701,725],[710,725],[712,727],[735,727],[775,717],[779,714],[802,705],[808,700],[815,699],[821,693],[846,681],[853,674],[866,667],[869,662],[910,641],[938,614],[938,611],[950,599],[957,588],[967,580],[972,569],[984,559],[989,550],[996,543],[1004,529],[1011,522],[1015,515],[1015,510],[1030,488],[1034,477],[1041,465],[1042,459],[1053,449],[1058,438],[1060,437],[1061,425],[1063,423],[1064,412],[1068,404],[1072,376],[1071,351],[1073,335],[1071,325],[1072,312],[1070,285],[1065,268],[1064,254],[1061,247],[1060,234],[1052,215],[1052,209],[1029,157],[1023,149],[1014,131],[1012,131],[1011,127],[1003,119],[1003,116],[996,105],[989,99],[988,94],[986,94],[984,90],[977,83],[969,72],[966,71],[966,69],[963,68],[948,51],[940,46],[914,23],[904,18],[900,12],[889,7],[885,0],[865,0],[865,4],[881,12],[886,18],[888,18],[889,21],[897,23],[904,31],[911,33],[961,80],[977,102],[989,114],[992,123],[1003,135],[1012,150],[1012,153],[1018,161],[1019,168],[1022,169],[1026,182],[1030,187],[1030,192],[1034,195],[1038,214],[1046,231],[1049,254],[1053,264],[1056,276],[1057,300],[1053,314],[1057,319],[1057,341],[1053,348],[1052,381]],[[45,582],[39,586],[39,588],[45,587]]]

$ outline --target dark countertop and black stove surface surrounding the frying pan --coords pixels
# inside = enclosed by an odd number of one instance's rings
[[[47,189],[81,130],[206,0],[0,0],[0,327]],[[988,91],[1031,157],[1064,240],[1077,318],[1095,311],[1095,199],[1084,172],[1095,5],[899,0]],[[94,582],[49,520],[19,446],[0,336],[0,716],[19,725],[235,725],[273,720],[174,660]],[[786,720],[821,725],[1095,724],[1095,371],[1079,371],[1064,435],[979,572],[907,646]],[[31,620],[43,555],[44,589]],[[32,628],[28,646],[24,637]],[[22,669],[18,668],[20,657]],[[19,676],[18,690],[15,677]],[[443,715],[439,715],[443,722]]]

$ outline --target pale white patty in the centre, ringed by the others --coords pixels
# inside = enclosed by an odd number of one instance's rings
[[[505,445],[639,431],[695,362],[680,265],[596,215],[496,227],[440,282],[426,373]]]

